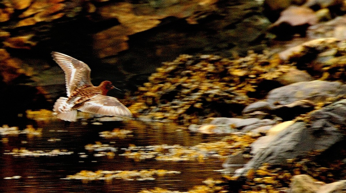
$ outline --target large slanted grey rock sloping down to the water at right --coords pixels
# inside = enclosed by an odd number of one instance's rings
[[[254,152],[253,158],[245,167],[236,171],[235,176],[246,175],[252,168],[258,168],[263,163],[284,165],[287,159],[306,156],[308,152],[326,151],[335,143],[341,141],[345,134],[339,124],[345,125],[346,99],[335,102],[311,113],[311,124],[295,122],[278,132],[267,143],[255,141],[254,145],[264,144]],[[263,140],[263,139],[257,139]],[[265,147],[265,148],[264,148]]]

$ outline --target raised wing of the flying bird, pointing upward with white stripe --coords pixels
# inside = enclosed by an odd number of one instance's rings
[[[90,68],[84,62],[79,61],[71,56],[61,54],[59,52],[52,52],[54,61],[64,70],[66,81],[67,96],[71,96],[76,88],[85,84],[92,86],[90,81]]]

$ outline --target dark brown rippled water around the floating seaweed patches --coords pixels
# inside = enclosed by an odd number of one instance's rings
[[[145,159],[134,161],[119,154],[130,144],[135,146],[174,145],[194,146],[199,143],[216,142],[223,136],[205,136],[190,133],[186,129],[167,123],[144,123],[138,121],[104,122],[103,125],[71,123],[64,126],[61,120],[38,121],[37,128],[42,128],[41,136],[1,136],[0,148],[0,187],[3,192],[139,192],[143,189],[161,187],[171,191],[188,191],[196,185],[203,185],[207,178],[220,178],[222,169],[220,158],[208,158],[204,162],[193,161],[157,161]],[[99,132],[112,131],[114,128],[132,131],[131,135],[121,138],[102,138]],[[113,158],[94,156],[84,148],[87,144],[110,144],[118,151]],[[71,155],[58,156],[13,156],[4,154],[15,148],[30,151],[54,149],[74,152]],[[85,153],[85,154],[80,154]],[[86,155],[86,156],[80,156]],[[113,179],[111,181],[66,180],[82,170],[88,171],[133,171],[164,169],[179,171],[180,174],[154,176],[156,180],[128,181]],[[6,177],[21,176],[18,179]],[[16,177],[15,177],[16,178]],[[0,191],[0,192],[2,192]]]

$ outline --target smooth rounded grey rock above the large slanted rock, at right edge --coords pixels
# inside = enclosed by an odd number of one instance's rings
[[[288,120],[309,112],[330,97],[345,95],[345,85],[339,82],[313,80],[298,82],[271,90],[266,99],[244,108],[243,114],[271,112]]]

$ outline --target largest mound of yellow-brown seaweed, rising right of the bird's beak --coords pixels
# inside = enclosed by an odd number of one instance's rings
[[[280,54],[264,51],[236,59],[181,55],[163,62],[148,82],[128,96],[131,112],[143,119],[199,124],[207,117],[234,117],[244,106],[280,86],[273,80],[305,70],[313,79],[346,81],[346,42],[319,39]],[[315,58],[320,58],[313,61]]]

